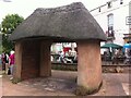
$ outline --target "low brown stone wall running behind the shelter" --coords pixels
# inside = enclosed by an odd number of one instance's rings
[[[52,70],[61,71],[78,71],[76,63],[52,63]],[[120,72],[119,72],[120,71]],[[129,73],[131,72],[131,65],[102,65],[103,73]]]

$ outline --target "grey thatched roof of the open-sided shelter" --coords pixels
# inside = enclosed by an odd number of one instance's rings
[[[102,27],[81,2],[53,9],[36,9],[16,27],[10,39],[32,37],[60,40],[106,40]]]

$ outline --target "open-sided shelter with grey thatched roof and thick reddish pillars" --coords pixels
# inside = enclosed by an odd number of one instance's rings
[[[93,91],[102,83],[100,41],[106,35],[87,9],[75,2],[53,9],[36,9],[16,27],[15,78],[51,75],[52,42],[78,44],[78,85]]]

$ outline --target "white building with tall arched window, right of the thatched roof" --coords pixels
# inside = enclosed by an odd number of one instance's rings
[[[130,0],[105,0],[90,12],[107,34],[108,41],[123,45],[123,34],[131,33],[130,8]]]

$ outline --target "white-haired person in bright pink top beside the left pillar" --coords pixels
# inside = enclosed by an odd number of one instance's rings
[[[14,68],[14,51],[11,51],[9,57],[9,69],[11,71],[11,75],[13,75],[13,68]],[[10,79],[12,78],[13,77],[11,77]]]

